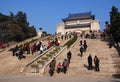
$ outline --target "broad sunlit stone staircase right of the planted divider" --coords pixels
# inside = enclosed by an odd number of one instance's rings
[[[80,41],[80,38],[78,39]],[[83,57],[79,56],[79,41],[76,42],[75,46],[71,48],[72,58],[71,63],[68,67],[67,73],[57,73],[54,72],[53,76],[65,76],[65,77],[90,77],[90,78],[111,78],[113,74],[120,74],[120,57],[118,52],[114,47],[109,48],[106,41],[101,41],[101,39],[86,39],[87,41],[87,51],[83,53]],[[68,51],[62,52],[61,55],[56,59],[56,65],[59,62],[63,62],[66,58]],[[100,59],[100,72],[93,70],[88,70],[87,57],[92,54],[92,59],[95,55]],[[94,67],[94,62],[93,62]],[[48,74],[49,67],[46,68],[45,75]]]

